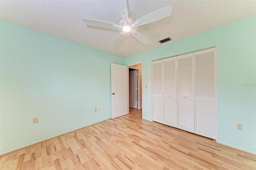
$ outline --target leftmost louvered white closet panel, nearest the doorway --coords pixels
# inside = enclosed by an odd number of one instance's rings
[[[163,60],[152,61],[152,119],[164,123]]]

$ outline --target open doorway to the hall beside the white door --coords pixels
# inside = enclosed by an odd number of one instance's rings
[[[129,113],[142,118],[142,64],[128,66]]]

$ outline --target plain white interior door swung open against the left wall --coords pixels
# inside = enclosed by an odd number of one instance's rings
[[[111,63],[112,119],[128,114],[127,66]]]

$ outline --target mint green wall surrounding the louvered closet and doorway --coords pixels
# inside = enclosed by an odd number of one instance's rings
[[[217,142],[255,154],[256,16],[126,58],[126,64],[143,61],[144,119],[152,120],[151,61],[215,45],[217,46]],[[148,85],[147,89],[145,85]],[[243,131],[236,130],[236,123],[243,124]]]

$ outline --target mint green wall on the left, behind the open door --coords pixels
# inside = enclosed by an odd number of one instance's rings
[[[110,63],[124,58],[6,21],[0,35],[1,154],[111,117]]]

